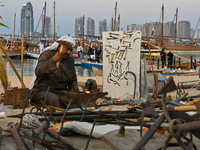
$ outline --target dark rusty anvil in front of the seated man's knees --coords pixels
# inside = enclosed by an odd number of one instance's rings
[[[88,99],[90,100],[90,103],[88,104],[88,107],[95,107],[95,101],[98,98],[104,97],[108,94],[108,92],[91,92],[91,93],[85,93],[85,92],[69,92],[69,91],[62,91],[65,96],[69,98],[73,98],[73,100],[78,101],[82,104],[82,107],[85,107]]]

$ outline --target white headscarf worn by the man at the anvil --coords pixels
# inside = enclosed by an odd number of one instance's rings
[[[71,36],[62,36],[61,38],[59,38],[58,40],[56,40],[51,46],[46,47],[44,51],[46,50],[57,50],[59,43],[58,42],[66,42],[66,43],[70,43],[72,45],[72,47],[74,47],[76,45],[76,42],[74,40],[73,37]]]

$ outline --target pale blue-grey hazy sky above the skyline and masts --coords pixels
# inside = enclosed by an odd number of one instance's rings
[[[33,6],[34,30],[39,22],[45,0],[0,0],[0,22],[10,29],[0,26],[0,34],[12,34],[14,29],[14,13],[16,12],[15,34],[20,33],[21,8],[31,2]],[[46,0],[46,15],[51,17],[53,24],[54,0]],[[106,19],[107,26],[114,17],[116,0],[55,0],[56,3],[56,32],[59,26],[60,35],[75,35],[75,19],[85,15],[95,21],[95,35],[98,36],[99,21]],[[161,7],[164,4],[164,22],[173,21],[178,8],[178,21],[189,21],[195,29],[200,16],[200,0],[117,0],[117,14],[120,13],[120,28],[127,30],[127,25],[161,22]],[[1,5],[5,5],[1,7]],[[41,23],[40,23],[41,24]],[[199,29],[199,25],[198,28]],[[41,32],[41,25],[37,29]],[[85,30],[86,33],[86,30]]]

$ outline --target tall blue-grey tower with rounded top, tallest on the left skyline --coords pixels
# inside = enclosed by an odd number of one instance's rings
[[[31,2],[28,2],[21,9],[21,33],[24,32],[24,36],[32,36],[34,31],[33,25],[33,7]]]

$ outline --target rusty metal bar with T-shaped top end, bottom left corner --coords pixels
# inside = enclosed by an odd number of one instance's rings
[[[24,145],[24,142],[22,141],[21,137],[18,134],[17,128],[10,128],[4,131],[10,132],[12,134],[19,150],[27,150],[26,146]]]

